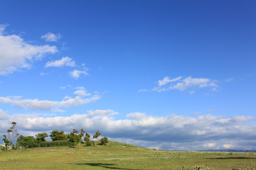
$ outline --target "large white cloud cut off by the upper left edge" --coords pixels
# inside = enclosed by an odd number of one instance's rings
[[[0,75],[11,74],[19,69],[29,69],[34,60],[46,54],[58,52],[56,46],[37,46],[25,42],[18,35],[5,35],[7,25],[0,25]]]

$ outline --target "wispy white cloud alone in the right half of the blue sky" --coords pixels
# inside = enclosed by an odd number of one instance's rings
[[[171,83],[167,87],[162,87],[170,82],[176,82]],[[204,87],[219,87],[216,83],[217,80],[210,80],[207,78],[192,78],[192,77],[186,77],[182,79],[181,76],[171,79],[170,77],[164,77],[163,80],[158,80],[158,87],[154,87],[152,91],[158,91],[163,92],[171,89],[178,89],[180,91],[183,91],[188,88],[204,88]],[[190,91],[190,94],[193,94],[195,91]]]

